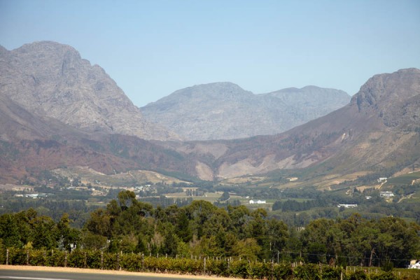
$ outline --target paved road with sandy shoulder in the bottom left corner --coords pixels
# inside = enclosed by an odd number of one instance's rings
[[[181,278],[181,277],[180,277]],[[120,275],[120,274],[92,274],[92,273],[71,273],[71,272],[43,272],[34,270],[0,269],[0,279],[20,280],[174,280],[174,278],[143,275]],[[188,279],[184,276],[182,279]],[[196,279],[197,278],[190,278]]]

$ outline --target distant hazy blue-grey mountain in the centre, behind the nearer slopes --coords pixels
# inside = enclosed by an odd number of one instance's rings
[[[177,90],[141,112],[184,139],[239,139],[286,131],[349,100],[342,90],[314,86],[253,94],[233,83],[209,83]]]

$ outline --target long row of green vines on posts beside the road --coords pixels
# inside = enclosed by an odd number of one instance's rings
[[[1,248],[0,264],[48,267],[78,267],[188,275],[230,276],[241,279],[297,280],[411,280],[420,279],[420,270],[398,269],[385,272],[378,268],[335,267],[311,263],[258,262],[241,258],[168,258],[143,253],[107,253],[104,251],[33,250]]]

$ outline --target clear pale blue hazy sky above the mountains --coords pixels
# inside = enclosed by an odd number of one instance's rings
[[[0,0],[0,45],[73,46],[137,106],[191,85],[254,93],[420,68],[420,1]]]

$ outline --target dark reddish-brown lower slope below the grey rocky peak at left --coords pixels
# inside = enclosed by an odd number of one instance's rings
[[[38,178],[58,167],[90,167],[104,174],[164,170],[194,174],[195,161],[138,137],[87,132],[38,116],[0,95],[0,182]]]

